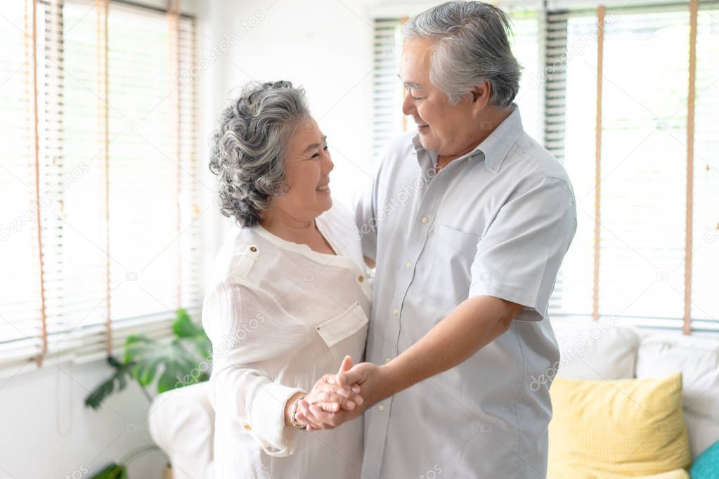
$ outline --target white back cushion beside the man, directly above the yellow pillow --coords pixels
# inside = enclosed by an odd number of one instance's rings
[[[641,338],[611,317],[598,321],[552,320],[559,345],[557,376],[574,379],[633,378]]]

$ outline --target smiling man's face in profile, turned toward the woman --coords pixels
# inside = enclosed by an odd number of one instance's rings
[[[444,92],[429,82],[432,39],[408,39],[402,50],[400,79],[405,85],[402,111],[418,125],[424,149],[440,156],[464,154],[477,146],[478,113],[483,106],[467,94],[452,105]]]

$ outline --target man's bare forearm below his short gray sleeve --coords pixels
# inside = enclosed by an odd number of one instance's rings
[[[521,309],[495,297],[465,300],[423,338],[380,367],[383,381],[376,401],[463,363],[508,330]]]

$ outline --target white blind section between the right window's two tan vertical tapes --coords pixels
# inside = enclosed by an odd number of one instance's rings
[[[607,14],[600,315],[681,318],[689,15]]]

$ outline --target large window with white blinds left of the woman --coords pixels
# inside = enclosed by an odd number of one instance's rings
[[[5,365],[101,358],[201,307],[195,92],[183,75],[193,19],[122,2],[32,6],[8,2],[0,34]]]

